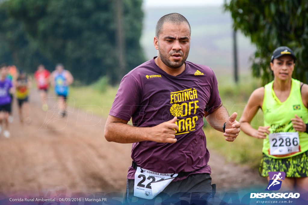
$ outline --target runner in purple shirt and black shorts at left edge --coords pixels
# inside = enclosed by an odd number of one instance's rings
[[[12,82],[7,79],[6,67],[6,64],[0,65],[0,132],[2,131],[2,128],[4,128],[3,135],[6,138],[9,138],[10,132],[8,118],[11,112],[10,90],[12,89],[13,85]]]

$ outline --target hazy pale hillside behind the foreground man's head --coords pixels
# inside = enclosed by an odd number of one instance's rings
[[[213,70],[233,69],[232,19],[219,7],[205,8],[145,8],[144,29],[141,44],[147,59],[157,55],[153,46],[155,25],[160,17],[169,13],[180,13],[192,29],[188,61],[208,65]],[[237,35],[239,69],[250,71],[249,56],[254,51],[250,40]]]

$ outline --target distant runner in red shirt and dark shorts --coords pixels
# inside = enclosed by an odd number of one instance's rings
[[[42,102],[42,109],[44,111],[48,110],[47,106],[47,92],[49,88],[49,77],[50,77],[50,72],[45,69],[45,66],[40,64],[38,66],[37,71],[34,73],[34,78],[36,80],[36,86],[39,90],[39,94],[41,97],[41,102]]]

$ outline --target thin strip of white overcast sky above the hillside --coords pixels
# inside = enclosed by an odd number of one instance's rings
[[[144,0],[143,6],[148,7],[196,7],[221,6],[224,0]]]

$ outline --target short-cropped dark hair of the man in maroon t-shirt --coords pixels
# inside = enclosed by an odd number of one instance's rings
[[[181,14],[178,14],[178,13],[171,13],[171,14],[167,14],[167,15],[164,15],[163,17],[161,17],[158,22],[156,23],[156,28],[155,28],[155,36],[158,38],[159,34],[160,34],[160,30],[161,28],[163,27],[164,23],[165,22],[170,22],[172,24],[175,24],[175,25],[179,25],[181,24],[182,22],[185,22],[188,24],[189,26],[189,32],[191,33],[191,28],[190,28],[190,25],[189,25],[189,22],[187,21],[187,19],[182,16]]]

